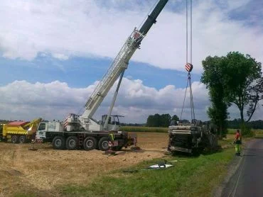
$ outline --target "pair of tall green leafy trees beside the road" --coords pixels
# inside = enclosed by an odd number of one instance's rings
[[[241,122],[249,122],[263,99],[261,63],[249,55],[229,52],[225,57],[206,57],[203,69],[201,81],[209,89],[208,115],[213,122],[225,127],[227,107],[232,104],[239,108]]]

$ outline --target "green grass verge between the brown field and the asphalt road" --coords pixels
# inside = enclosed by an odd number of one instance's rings
[[[212,196],[227,172],[232,148],[200,157],[167,157],[175,167],[136,173],[112,171],[88,186],[63,186],[63,196]],[[133,169],[144,169],[159,161],[142,162]]]

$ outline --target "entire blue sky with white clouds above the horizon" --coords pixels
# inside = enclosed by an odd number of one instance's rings
[[[77,113],[154,2],[3,1],[0,118],[61,120],[68,113]],[[262,62],[262,13],[259,0],[193,1],[192,81],[199,119],[207,120],[205,111],[210,105],[208,92],[199,83],[201,61],[208,55],[238,50]],[[168,1],[129,62],[114,108],[114,113],[125,115],[125,122],[144,123],[154,113],[181,112],[187,79],[185,14],[184,0]],[[43,89],[46,95],[41,94]],[[50,94],[56,91],[71,99]],[[107,113],[111,96],[109,92],[96,118]],[[40,100],[46,102],[45,109],[36,104]],[[255,119],[261,111],[259,108]],[[186,106],[185,118],[188,112]],[[238,118],[237,109],[230,108],[230,115]]]

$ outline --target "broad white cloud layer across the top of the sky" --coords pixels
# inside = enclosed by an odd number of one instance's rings
[[[232,50],[248,53],[262,62],[262,29],[227,17],[247,2],[209,0],[194,4],[193,72],[202,70],[201,60],[208,55],[225,55]],[[4,0],[0,8],[0,51],[4,57],[26,60],[32,60],[39,52],[51,53],[60,60],[74,56],[114,58],[153,3]],[[183,4],[183,1],[168,2],[132,60],[161,68],[184,69],[185,13],[168,9],[172,4]]]

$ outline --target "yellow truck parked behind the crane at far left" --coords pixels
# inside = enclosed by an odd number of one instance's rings
[[[36,135],[38,124],[42,118],[37,118],[31,122],[14,121],[3,125],[3,140],[11,139],[12,143],[25,143]]]

